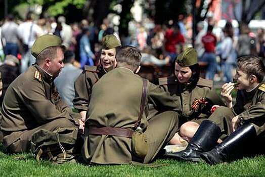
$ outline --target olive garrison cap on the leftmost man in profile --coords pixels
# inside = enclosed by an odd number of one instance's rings
[[[36,58],[41,51],[52,46],[62,46],[61,38],[53,34],[41,35],[33,43],[31,54]]]

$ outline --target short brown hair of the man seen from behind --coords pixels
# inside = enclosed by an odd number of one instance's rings
[[[118,67],[125,67],[135,71],[141,64],[141,52],[130,46],[123,46],[117,49],[116,59]]]

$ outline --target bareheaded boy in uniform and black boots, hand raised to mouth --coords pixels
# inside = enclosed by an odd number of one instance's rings
[[[265,130],[265,84],[262,83],[265,66],[255,56],[240,57],[237,61],[234,83],[225,83],[221,95],[228,107],[218,107],[200,125],[187,149],[174,154],[166,154],[174,159],[202,158],[209,164],[232,160],[232,156],[242,153],[243,148],[252,149],[255,141],[263,138]],[[238,89],[236,104],[232,105],[231,91]],[[213,119],[229,118],[232,134],[216,145],[220,128]],[[235,156],[234,156],[235,157]]]

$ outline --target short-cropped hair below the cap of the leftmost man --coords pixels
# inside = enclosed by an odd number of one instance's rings
[[[36,58],[36,63],[40,64],[45,61],[45,59],[49,58],[51,60],[55,59],[57,57],[57,50],[62,49],[63,47],[60,46],[52,46],[49,48],[46,48],[45,50],[41,51],[39,55]]]

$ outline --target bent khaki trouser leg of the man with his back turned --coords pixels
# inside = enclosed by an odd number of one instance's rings
[[[157,154],[173,138],[178,130],[179,114],[174,111],[165,111],[148,120],[145,134],[148,141],[148,153],[144,163],[155,160]]]

